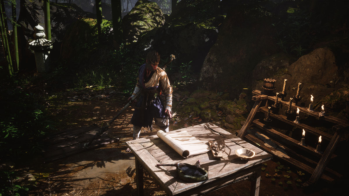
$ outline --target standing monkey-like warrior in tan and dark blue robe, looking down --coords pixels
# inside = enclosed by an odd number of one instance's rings
[[[159,126],[164,132],[169,131],[169,118],[172,118],[172,86],[164,70],[158,67],[160,55],[152,50],[146,57],[146,64],[139,68],[138,81],[130,101],[138,92],[141,92],[140,99],[136,104],[132,115],[133,140],[139,138],[142,127],[150,127],[153,123]],[[165,94],[166,106],[160,98],[161,93]],[[130,150],[127,148],[127,152]]]

